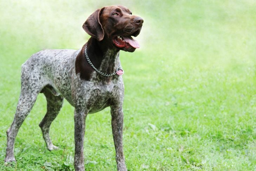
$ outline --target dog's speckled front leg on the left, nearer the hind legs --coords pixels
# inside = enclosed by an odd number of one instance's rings
[[[76,171],[84,171],[84,133],[85,133],[85,119],[87,112],[84,110],[75,109],[75,157],[74,166]]]

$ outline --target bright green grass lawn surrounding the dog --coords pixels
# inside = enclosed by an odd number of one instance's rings
[[[67,103],[46,149],[38,96],[4,166],[6,130],[20,93],[21,64],[44,48],[78,49],[96,8],[119,1],[0,0],[0,170],[74,170],[73,110]],[[256,170],[256,2],[122,1],[144,19],[141,48],[121,52],[124,153],[137,170]],[[86,170],[116,170],[110,109],[86,120]]]

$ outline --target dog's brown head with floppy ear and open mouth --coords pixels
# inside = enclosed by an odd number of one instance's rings
[[[143,19],[132,15],[124,6],[106,6],[97,9],[85,21],[83,28],[98,41],[109,42],[111,48],[134,52],[139,44],[132,38],[142,28]]]

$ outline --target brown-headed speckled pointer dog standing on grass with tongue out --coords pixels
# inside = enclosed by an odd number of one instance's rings
[[[58,149],[49,136],[50,125],[57,117],[65,98],[74,110],[74,166],[84,170],[84,133],[88,113],[111,108],[111,124],[116,149],[117,170],[126,170],[123,154],[124,73],[119,51],[134,52],[136,37],[143,19],[124,6],[106,6],[96,10],[83,28],[91,38],[80,50],[43,50],[23,65],[21,93],[11,127],[7,130],[5,162],[15,162],[14,141],[37,95],[44,93],[47,112],[39,124],[48,150]]]

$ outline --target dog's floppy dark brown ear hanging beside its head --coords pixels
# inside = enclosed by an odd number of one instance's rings
[[[103,9],[104,7],[97,9],[87,18],[83,25],[83,29],[86,31],[86,33],[88,33],[91,37],[96,38],[98,41],[101,41],[104,38],[104,30],[100,23],[100,15]]]

